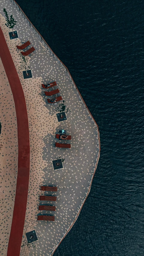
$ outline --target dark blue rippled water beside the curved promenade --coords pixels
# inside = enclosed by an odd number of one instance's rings
[[[100,131],[91,191],[54,256],[144,255],[144,1],[17,3],[69,69]]]

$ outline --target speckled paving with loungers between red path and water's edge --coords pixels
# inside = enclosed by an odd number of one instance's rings
[[[25,234],[31,230],[36,231],[38,241],[35,242],[35,248],[23,247],[20,256],[52,255],[75,220],[88,193],[95,163],[98,160],[98,129],[93,124],[93,119],[88,116],[85,105],[80,101],[63,66],[59,65],[56,58],[53,58],[44,47],[41,38],[35,34],[16,6],[10,0],[0,3],[0,26],[19,74],[29,119],[30,179],[22,241],[26,240]],[[14,30],[17,30],[19,38],[10,40],[10,30],[4,25],[3,8],[17,20]],[[30,47],[35,48],[28,57],[33,77],[24,80],[22,71],[18,68],[20,51],[16,51],[16,45],[28,40],[31,42]],[[58,96],[62,96],[66,107],[71,111],[66,114],[67,120],[60,123],[55,111],[59,103],[48,104],[49,97],[44,95],[44,91],[51,91],[53,88],[47,90],[41,87],[41,83],[52,81],[57,82],[54,89],[59,88]],[[54,147],[55,142],[59,142],[55,139],[55,134],[62,128],[72,136],[72,140],[67,141],[71,143],[71,149]],[[65,158],[63,169],[53,170],[52,160],[59,156]],[[57,186],[58,191],[40,191],[41,185]],[[43,194],[57,196],[57,201],[39,201],[39,196]],[[38,205],[41,204],[56,206],[56,211],[38,211]],[[55,215],[55,221],[37,221],[37,215],[41,214]]]

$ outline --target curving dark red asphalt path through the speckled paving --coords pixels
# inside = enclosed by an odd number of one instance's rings
[[[10,238],[8,242],[7,256],[19,256],[29,188],[29,122],[22,85],[20,83],[19,76],[10,55],[10,51],[8,49],[1,27],[0,42],[0,57],[13,94],[16,109],[18,134],[18,171],[16,182],[16,196],[14,202],[13,219],[10,230]]]

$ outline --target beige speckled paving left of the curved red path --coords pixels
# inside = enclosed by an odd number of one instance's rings
[[[0,59],[0,255],[7,255],[18,165],[16,111],[13,95]]]

